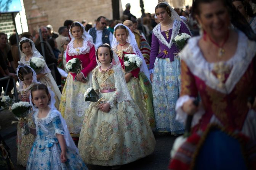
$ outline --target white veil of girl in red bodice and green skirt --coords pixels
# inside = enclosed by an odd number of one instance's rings
[[[119,24],[115,25],[114,30],[119,25],[123,25],[123,24],[119,23]],[[141,54],[141,50],[138,47],[138,44],[137,44],[136,39],[135,39],[135,35],[134,35],[134,33],[131,32],[131,30],[128,27],[126,27],[125,25],[123,25],[123,26],[129,31],[129,35],[128,35],[126,41],[128,43],[130,43],[131,46],[133,47],[133,52],[142,59],[142,64],[141,64],[141,67],[139,67],[139,69],[140,69],[141,72],[143,72],[147,76],[147,78],[150,81],[149,70],[147,68],[147,64],[145,62],[145,59]],[[115,35],[115,31],[114,31],[114,35]],[[115,38],[115,36],[113,36],[112,47],[117,48],[118,44],[119,43],[117,41],[117,38]]]

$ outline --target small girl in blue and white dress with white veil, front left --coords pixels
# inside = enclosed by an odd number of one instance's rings
[[[36,129],[30,128],[30,133],[37,135],[37,139],[30,151],[27,170],[88,170],[54,103],[54,93],[44,84],[31,88]]]

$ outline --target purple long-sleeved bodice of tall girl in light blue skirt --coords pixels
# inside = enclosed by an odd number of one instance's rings
[[[173,33],[173,29],[174,29],[174,33]],[[151,46],[151,52],[150,52],[150,65],[149,65],[150,71],[154,69],[154,63],[157,57],[169,58],[170,61],[174,61],[174,56],[179,52],[179,50],[173,43],[170,43],[172,34],[173,34],[173,38],[176,37],[176,35],[181,33],[187,33],[190,35],[189,30],[187,29],[186,25],[183,22],[174,21],[173,29],[168,30],[169,37],[167,39],[165,31],[161,31],[162,36],[159,34],[160,24],[158,24],[154,28],[153,34],[152,34],[152,43],[151,43],[152,46]],[[171,44],[170,48],[165,43],[163,43],[163,41],[166,41],[166,43],[168,43],[169,46]]]

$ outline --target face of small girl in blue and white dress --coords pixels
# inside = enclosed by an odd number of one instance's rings
[[[46,94],[45,90],[37,90],[32,92],[32,102],[38,107],[38,109],[44,109],[48,106],[50,94]]]

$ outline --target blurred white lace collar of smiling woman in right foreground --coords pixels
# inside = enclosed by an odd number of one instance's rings
[[[198,46],[200,38],[201,36],[190,38],[180,55],[181,59],[186,62],[195,76],[205,81],[207,86],[224,94],[230,94],[255,56],[256,42],[249,40],[243,32],[238,32],[237,50],[232,58],[224,62],[230,65],[232,70],[224,84],[224,88],[220,88],[218,86],[218,78],[212,73],[214,63],[209,63],[205,60]]]

